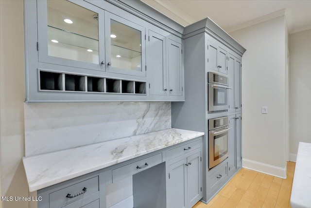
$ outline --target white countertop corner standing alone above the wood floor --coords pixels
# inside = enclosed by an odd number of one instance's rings
[[[292,208],[311,207],[311,143],[299,142],[291,206]]]

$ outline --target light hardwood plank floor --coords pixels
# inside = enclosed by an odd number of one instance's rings
[[[242,168],[206,205],[193,208],[290,208],[294,162],[287,162],[287,178],[282,179]]]

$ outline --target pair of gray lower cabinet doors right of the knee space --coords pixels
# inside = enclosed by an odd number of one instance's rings
[[[191,208],[202,198],[201,149],[174,158],[167,169],[167,208]]]

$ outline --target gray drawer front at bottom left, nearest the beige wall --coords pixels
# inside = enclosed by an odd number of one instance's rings
[[[93,194],[99,191],[98,183],[98,176],[95,176],[80,183],[50,193],[50,208],[62,208],[87,196],[92,195],[93,197]],[[66,197],[67,194],[74,196],[75,194],[81,193],[83,192],[84,188],[86,188],[85,193],[82,193],[73,198]]]

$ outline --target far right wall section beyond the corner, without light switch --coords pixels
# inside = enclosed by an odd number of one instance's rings
[[[290,156],[296,160],[299,142],[311,143],[311,30],[289,36]]]

